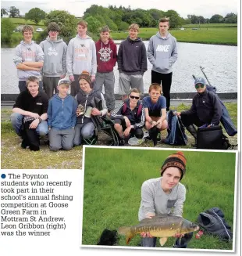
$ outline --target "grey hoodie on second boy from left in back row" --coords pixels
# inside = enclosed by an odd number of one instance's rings
[[[66,75],[67,45],[62,38],[51,41],[48,37],[46,40],[41,41],[40,46],[44,51],[44,76],[58,78],[61,75]]]

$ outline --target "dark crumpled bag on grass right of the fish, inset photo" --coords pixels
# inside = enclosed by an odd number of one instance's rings
[[[219,236],[222,240],[233,240],[233,233],[231,226],[224,219],[222,210],[218,207],[212,207],[211,209],[201,212],[198,215],[198,225],[205,233]]]

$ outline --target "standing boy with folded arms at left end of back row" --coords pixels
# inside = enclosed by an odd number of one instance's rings
[[[16,65],[20,92],[27,91],[26,81],[30,76],[38,78],[39,89],[43,91],[41,81],[41,67],[44,62],[44,52],[40,45],[32,41],[34,29],[25,25],[22,29],[23,40],[15,49],[13,62]]]

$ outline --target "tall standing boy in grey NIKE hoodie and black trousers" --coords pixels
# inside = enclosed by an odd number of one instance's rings
[[[148,59],[153,65],[151,83],[161,84],[166,99],[166,110],[170,106],[170,88],[173,78],[173,64],[177,59],[176,38],[169,34],[169,18],[158,20],[159,31],[150,38]]]

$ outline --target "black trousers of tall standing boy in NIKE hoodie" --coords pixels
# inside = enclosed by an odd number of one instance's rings
[[[161,74],[151,70],[151,83],[162,84],[163,96],[166,99],[166,110],[169,110],[170,106],[170,89],[173,80],[173,72],[169,74]]]

